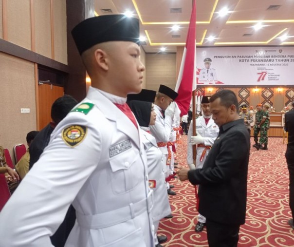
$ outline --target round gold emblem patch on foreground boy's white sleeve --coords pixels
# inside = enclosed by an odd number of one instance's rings
[[[84,140],[86,134],[87,127],[72,125],[62,131],[62,139],[70,147],[75,147]]]

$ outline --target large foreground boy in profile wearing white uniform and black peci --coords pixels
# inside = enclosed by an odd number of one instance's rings
[[[71,203],[76,222],[65,247],[154,247],[143,136],[124,104],[142,89],[139,20],[94,17],[72,35],[92,87],[1,211],[0,247],[52,247]]]

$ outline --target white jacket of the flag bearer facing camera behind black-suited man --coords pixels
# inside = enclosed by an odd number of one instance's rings
[[[190,142],[191,136],[193,134],[193,120],[190,123],[189,131],[188,131],[188,147],[187,147],[187,163],[193,164],[193,149]],[[215,139],[218,137],[219,134],[219,127],[215,124],[212,117],[209,119],[207,125],[205,124],[205,120],[203,116],[196,118],[196,131],[204,137],[205,146],[212,146]],[[203,157],[202,161],[200,161],[202,152],[204,151],[204,147],[200,148],[197,147],[196,152],[196,169],[200,169],[203,167],[204,161],[209,153],[209,149],[206,150],[205,156]]]

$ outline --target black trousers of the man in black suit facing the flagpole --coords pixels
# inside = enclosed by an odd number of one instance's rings
[[[240,225],[225,225],[206,219],[209,247],[237,247]]]

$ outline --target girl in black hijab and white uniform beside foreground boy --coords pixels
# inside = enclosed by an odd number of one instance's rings
[[[143,89],[140,94],[128,95],[128,104],[134,113],[144,138],[142,141],[147,153],[147,166],[149,187],[153,190],[152,219],[155,228],[155,246],[162,247],[161,243],[167,240],[164,235],[156,234],[159,221],[171,213],[165,187],[165,172],[163,171],[163,154],[156,144],[154,136],[151,135],[149,125],[155,124],[156,113],[154,111],[154,98],[156,92]]]

